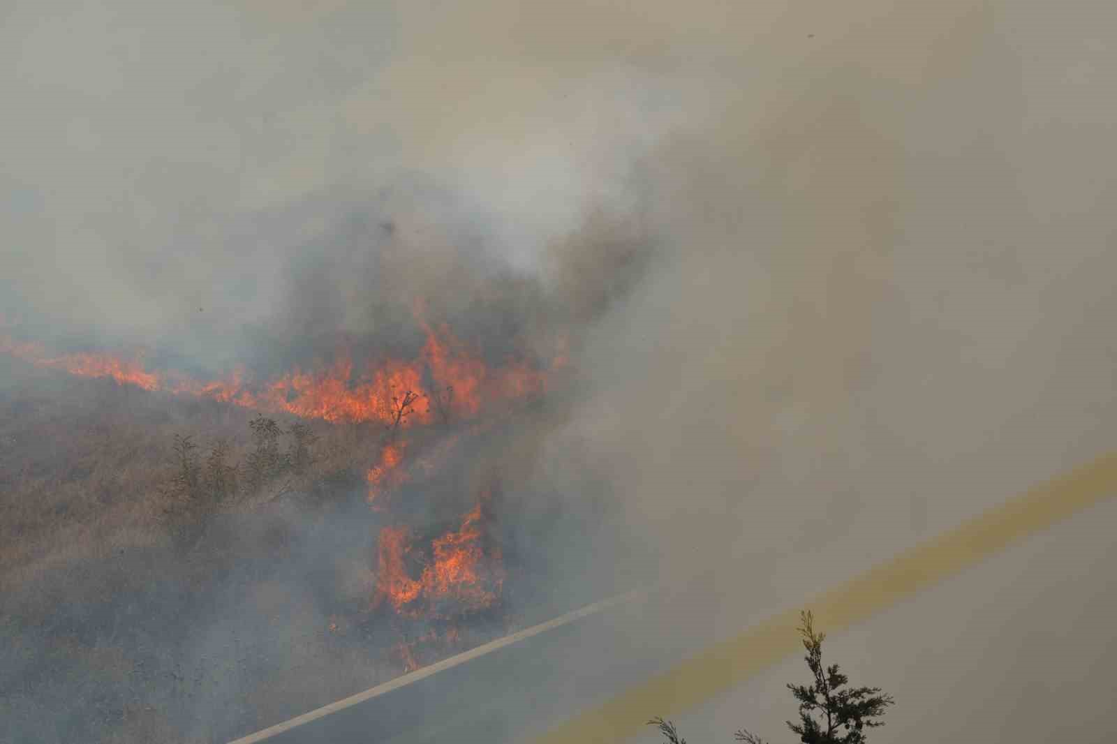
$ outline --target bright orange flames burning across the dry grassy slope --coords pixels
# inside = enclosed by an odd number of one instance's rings
[[[546,391],[547,371],[524,359],[487,364],[479,352],[462,343],[448,325],[417,321],[426,334],[421,349],[409,359],[381,357],[369,364],[354,363],[342,349],[333,360],[311,370],[295,369],[270,379],[252,379],[236,368],[220,379],[199,380],[174,370],[153,372],[141,357],[128,360],[106,353],[51,354],[38,343],[0,334],[0,353],[41,368],[87,378],[111,378],[120,384],[147,391],[210,399],[268,413],[289,413],[330,422],[379,422],[390,431],[380,446],[379,459],[365,471],[367,502],[383,512],[385,495],[409,483],[442,470],[454,459],[460,441],[485,431],[495,419],[481,412],[531,399]],[[10,325],[0,317],[0,326]],[[417,344],[418,346],[418,344]],[[566,366],[565,338],[554,355],[552,370]],[[417,425],[460,421],[438,437],[398,431]],[[409,449],[413,448],[413,451]],[[499,545],[489,532],[490,492],[480,494],[460,523],[438,536],[418,537],[407,526],[380,528],[376,545],[379,571],[373,605],[386,603],[402,619],[421,623],[426,632],[395,648],[408,671],[418,669],[417,655],[431,645],[460,642],[459,621],[499,608],[506,572]],[[344,633],[342,619],[331,617],[330,633]],[[468,628],[467,628],[468,632]]]

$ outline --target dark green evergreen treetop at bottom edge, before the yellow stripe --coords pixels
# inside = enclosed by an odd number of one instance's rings
[[[799,723],[789,721],[787,727],[799,734],[803,744],[865,744],[868,741],[866,729],[884,726],[879,718],[895,700],[879,687],[841,689],[849,678],[840,667],[837,664],[822,666],[825,633],[814,630],[814,616],[809,610],[799,617],[802,621],[799,633],[806,649],[803,660],[814,679],[810,685],[787,685],[799,700]],[[669,744],[686,744],[670,721],[652,718],[648,723],[659,727]],[[764,740],[746,728],[738,731],[734,738],[745,744],[765,744]]]

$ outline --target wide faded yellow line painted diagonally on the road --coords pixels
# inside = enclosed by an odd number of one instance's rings
[[[836,631],[923,591],[1098,502],[1117,495],[1117,452],[1049,480],[954,530],[900,553],[806,602],[819,628]],[[676,715],[737,686],[798,648],[790,610],[715,643],[600,707],[561,724],[535,744],[614,744],[656,715]]]

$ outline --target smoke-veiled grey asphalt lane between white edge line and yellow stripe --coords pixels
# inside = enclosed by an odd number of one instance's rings
[[[413,681],[389,683],[328,715],[239,742],[518,741],[700,648],[708,638],[697,631],[700,626],[679,633],[679,613],[708,605],[712,591],[695,581],[681,590],[611,598],[461,664],[427,676],[419,670]]]

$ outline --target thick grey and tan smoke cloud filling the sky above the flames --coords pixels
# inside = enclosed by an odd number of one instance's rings
[[[210,372],[565,334],[514,490],[795,601],[1113,440],[1072,4],[16,3],[0,312]]]

